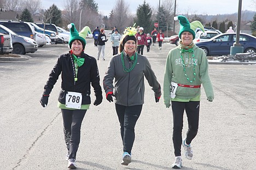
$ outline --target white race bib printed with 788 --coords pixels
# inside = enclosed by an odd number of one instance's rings
[[[66,107],[67,108],[81,109],[82,99],[83,99],[82,93],[67,92],[67,94],[66,94]]]

